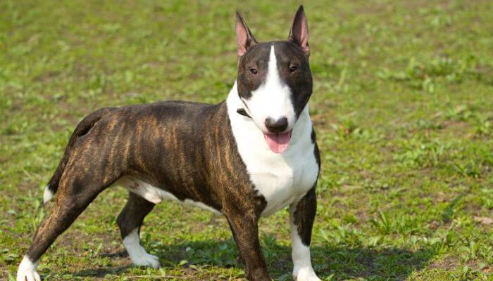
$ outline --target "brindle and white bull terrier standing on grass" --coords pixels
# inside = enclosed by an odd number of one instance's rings
[[[246,278],[270,280],[258,220],[289,206],[294,280],[320,280],[309,249],[320,153],[308,114],[313,81],[304,8],[286,41],[258,42],[238,12],[235,32],[238,74],[222,103],[106,107],[82,119],[44,190],[44,202],[58,192],[56,202],[18,281],[40,280],[42,254],[113,185],[129,190],[117,223],[137,266],[159,266],[140,244],[139,229],[155,204],[170,199],[223,214]]]

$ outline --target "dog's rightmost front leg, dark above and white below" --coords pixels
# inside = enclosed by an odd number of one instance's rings
[[[297,281],[320,281],[311,266],[311,228],[317,211],[315,187],[298,202],[289,206],[293,279]]]

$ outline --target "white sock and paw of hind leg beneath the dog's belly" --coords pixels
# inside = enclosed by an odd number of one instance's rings
[[[160,266],[158,257],[148,254],[146,249],[141,246],[137,228],[123,239],[123,246],[127,249],[132,263],[136,266],[151,266],[153,268]]]

